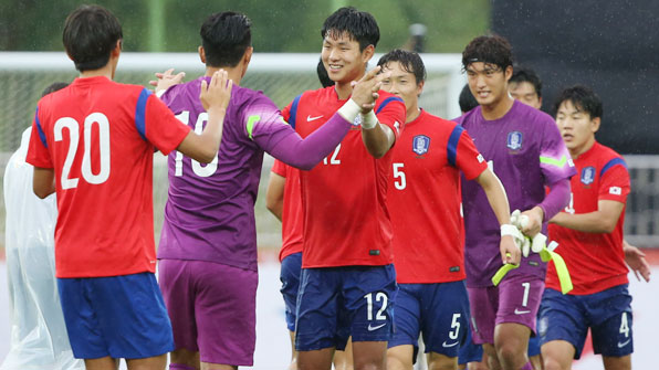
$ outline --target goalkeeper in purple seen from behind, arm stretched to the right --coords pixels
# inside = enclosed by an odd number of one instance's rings
[[[253,363],[254,202],[263,152],[310,170],[344,138],[358,112],[347,105],[351,109],[327,116],[326,124],[303,140],[268,97],[239,86],[253,52],[251,21],[241,13],[215,13],[201,25],[200,35],[206,75],[175,84],[161,95],[163,101],[182,123],[198,130],[207,119],[197,97],[199,85],[224,68],[236,86],[222,146],[210,165],[201,166],[178,152],[169,155],[159,283],[176,343],[170,369],[199,366],[197,358],[202,368],[232,369]],[[161,78],[158,91],[176,80]],[[373,73],[357,83],[351,104],[372,104],[377,81]]]

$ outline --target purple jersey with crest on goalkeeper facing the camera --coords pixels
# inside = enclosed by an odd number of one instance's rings
[[[511,211],[530,210],[545,198],[545,186],[575,173],[574,163],[554,119],[515,101],[501,118],[485,120],[481,107],[456,119],[473,138],[479,151],[496,173],[510,202]],[[485,192],[475,181],[461,181],[464,212],[464,263],[469,287],[492,286],[492,276],[501,267],[500,228]],[[542,232],[546,235],[547,224]],[[522,257],[520,268],[509,273],[544,279],[546,263],[531,253]]]

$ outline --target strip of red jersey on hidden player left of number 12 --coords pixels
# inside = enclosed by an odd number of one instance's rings
[[[282,210],[282,249],[279,252],[279,261],[282,262],[289,255],[302,252],[303,220],[300,170],[275,159],[272,172],[286,179]]]

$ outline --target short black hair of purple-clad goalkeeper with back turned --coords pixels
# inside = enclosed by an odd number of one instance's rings
[[[242,13],[224,11],[211,14],[201,24],[201,45],[206,65],[212,67],[238,65],[252,45],[252,22]]]

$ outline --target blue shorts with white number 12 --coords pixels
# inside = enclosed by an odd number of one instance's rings
[[[389,340],[397,290],[394,265],[302,268],[295,349]]]

